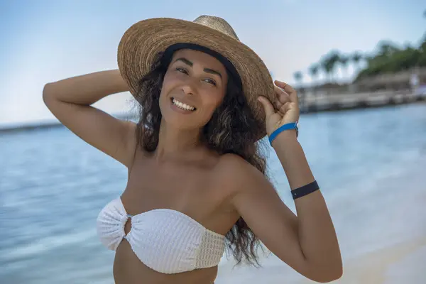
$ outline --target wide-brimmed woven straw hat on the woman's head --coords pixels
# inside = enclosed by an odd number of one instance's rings
[[[118,49],[119,70],[131,94],[136,96],[138,82],[151,70],[155,56],[177,43],[202,45],[231,62],[241,77],[243,92],[261,127],[255,129],[253,126],[253,131],[259,139],[265,136],[265,113],[257,98],[262,95],[275,102],[271,74],[261,58],[239,41],[234,29],[223,18],[205,15],[195,21],[150,18],[133,24],[124,33]]]

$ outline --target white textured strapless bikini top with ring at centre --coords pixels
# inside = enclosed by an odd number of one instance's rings
[[[131,229],[126,235],[124,225],[129,218]],[[132,216],[126,213],[121,198],[109,202],[99,213],[97,234],[113,251],[126,239],[136,256],[160,273],[217,266],[225,249],[225,236],[182,212],[153,209]]]

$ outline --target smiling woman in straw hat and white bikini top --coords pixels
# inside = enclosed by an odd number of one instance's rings
[[[297,143],[297,94],[275,81],[222,18],[153,18],[131,26],[119,70],[46,84],[50,111],[84,141],[123,163],[123,194],[99,213],[115,250],[116,283],[213,283],[226,246],[258,264],[260,243],[318,282],[342,275],[329,212]],[[137,124],[90,105],[130,91]],[[265,175],[269,136],[297,217]]]

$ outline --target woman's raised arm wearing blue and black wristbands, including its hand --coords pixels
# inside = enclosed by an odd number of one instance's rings
[[[278,82],[277,104],[261,98],[266,112],[268,135],[298,120],[297,94],[290,86]],[[315,180],[297,141],[295,129],[285,130],[272,142],[292,192]],[[280,200],[268,180],[248,163],[237,163],[232,180],[237,188],[232,200],[236,212],[254,234],[278,258],[311,280],[325,283],[342,276],[342,256],[327,204],[320,190],[295,198],[297,216]],[[228,171],[231,169],[229,168]],[[321,182],[319,182],[321,184]],[[317,189],[317,187],[315,187]],[[315,189],[314,188],[314,189]]]

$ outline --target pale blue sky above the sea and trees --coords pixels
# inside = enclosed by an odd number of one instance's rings
[[[295,84],[296,71],[311,82],[308,68],[329,50],[373,53],[381,40],[417,46],[425,10],[417,0],[0,0],[0,126],[54,119],[43,104],[43,86],[117,69],[121,36],[146,18],[222,17],[273,79]],[[353,72],[350,66],[341,80]],[[129,93],[114,94],[94,106],[117,113],[129,109],[129,99]]]

